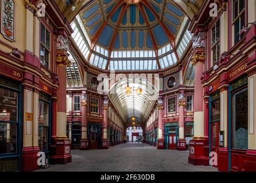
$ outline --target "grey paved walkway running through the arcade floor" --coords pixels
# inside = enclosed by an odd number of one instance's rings
[[[148,144],[121,144],[103,150],[72,150],[72,162],[66,165],[50,165],[38,171],[75,172],[172,172],[217,171],[211,166],[188,164],[188,151],[157,150]]]

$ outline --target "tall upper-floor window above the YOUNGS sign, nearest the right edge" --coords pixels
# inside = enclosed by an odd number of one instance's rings
[[[233,0],[233,31],[234,43],[240,39],[240,33],[245,26],[245,0]]]

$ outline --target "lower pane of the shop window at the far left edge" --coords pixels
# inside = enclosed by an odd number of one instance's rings
[[[17,124],[0,122],[0,154],[17,153]]]

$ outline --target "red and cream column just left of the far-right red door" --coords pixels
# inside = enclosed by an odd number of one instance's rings
[[[179,98],[179,139],[177,141],[178,150],[187,150],[184,134],[184,91],[181,91]]]

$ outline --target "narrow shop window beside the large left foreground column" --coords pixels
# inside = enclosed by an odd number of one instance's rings
[[[40,94],[40,96],[42,95]],[[40,98],[39,112],[38,112],[38,146],[40,150],[48,150],[48,135],[49,135],[49,102]]]

